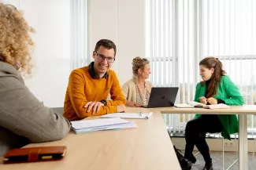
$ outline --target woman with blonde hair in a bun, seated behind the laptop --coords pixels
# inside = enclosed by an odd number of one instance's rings
[[[150,76],[150,62],[139,56],[132,60],[133,78],[122,86],[128,107],[147,106],[152,84],[146,79]]]

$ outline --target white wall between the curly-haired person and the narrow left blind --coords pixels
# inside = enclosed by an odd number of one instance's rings
[[[69,0],[4,0],[35,28],[32,78],[25,84],[48,107],[63,107],[70,73]]]

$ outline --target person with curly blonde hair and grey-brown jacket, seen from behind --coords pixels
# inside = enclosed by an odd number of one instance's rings
[[[31,74],[33,33],[13,5],[0,3],[0,157],[28,143],[61,139],[70,123],[24,85],[20,73]]]

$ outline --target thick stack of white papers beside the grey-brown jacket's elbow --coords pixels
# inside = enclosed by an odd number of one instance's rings
[[[134,122],[126,121],[121,118],[71,121],[71,123],[72,123],[72,131],[75,133],[136,128],[136,125]]]

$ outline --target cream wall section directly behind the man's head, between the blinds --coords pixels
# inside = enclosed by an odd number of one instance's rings
[[[102,38],[116,43],[121,85],[132,78],[132,59],[145,56],[145,8],[145,0],[91,0],[91,48]]]

